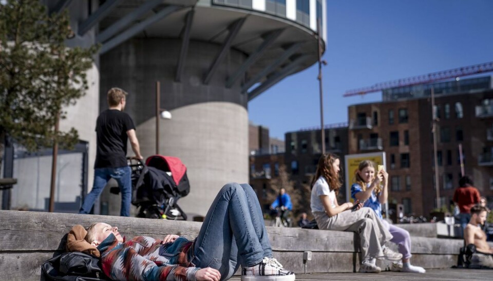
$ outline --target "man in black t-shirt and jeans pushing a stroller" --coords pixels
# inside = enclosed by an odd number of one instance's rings
[[[135,134],[132,118],[123,112],[127,93],[119,88],[108,91],[109,108],[103,111],[96,122],[97,152],[94,163],[94,184],[87,194],[79,210],[80,214],[88,214],[94,201],[103,192],[110,178],[116,179],[122,192],[121,216],[130,216],[131,201],[131,170],[127,165],[127,139],[135,153],[135,157],[143,159],[140,154],[139,140]]]

